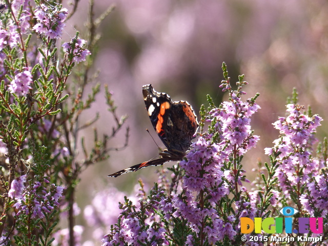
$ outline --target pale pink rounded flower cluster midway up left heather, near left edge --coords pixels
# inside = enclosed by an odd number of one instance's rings
[[[31,83],[32,75],[30,71],[26,70],[22,73],[18,73],[9,85],[10,93],[15,93],[17,96],[24,96],[32,89],[30,86]]]

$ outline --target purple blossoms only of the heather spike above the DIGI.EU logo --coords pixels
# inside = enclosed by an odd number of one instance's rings
[[[288,104],[286,108],[287,116],[279,117],[273,124],[279,130],[280,138],[274,141],[273,148],[265,149],[265,153],[278,162],[275,177],[282,200],[287,202],[291,199],[301,211],[300,196],[322,168],[319,160],[312,155],[317,141],[314,134],[322,119],[318,115],[304,114],[304,107],[297,104]]]

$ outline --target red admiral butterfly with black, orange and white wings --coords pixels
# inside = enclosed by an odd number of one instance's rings
[[[142,94],[150,121],[167,149],[159,152],[160,158],[158,159],[142,162],[108,175],[109,177],[117,177],[148,166],[163,165],[171,160],[182,160],[197,131],[197,117],[187,101],[172,103],[168,94],[158,93],[152,85],[143,86]]]

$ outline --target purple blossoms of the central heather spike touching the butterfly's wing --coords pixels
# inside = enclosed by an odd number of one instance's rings
[[[224,89],[231,88],[227,84]],[[260,107],[251,100],[243,103],[235,92],[232,92],[231,98],[230,102],[224,102],[222,107],[210,112],[219,139],[213,142],[212,135],[203,134],[192,144],[186,160],[180,162],[181,168],[185,170],[185,175],[182,177],[183,193],[172,195],[172,207],[168,206],[168,199],[161,203],[163,209],[168,212],[174,211],[173,217],[185,218],[196,234],[200,232],[204,219],[211,218],[207,222],[208,226],[204,228],[204,233],[213,244],[225,236],[233,239],[237,234],[233,226],[236,218],[229,216],[227,221],[223,221],[216,217],[217,211],[214,209],[217,202],[229,194],[229,186],[233,187],[236,179],[232,170],[222,171],[223,163],[229,161],[233,152],[242,155],[253,148],[259,140],[259,137],[253,135],[251,131],[250,117]],[[239,172],[240,175],[237,177],[240,186],[242,186],[241,181],[245,181],[242,172]],[[223,180],[222,177],[226,179]],[[242,189],[244,188],[241,187],[240,190]],[[203,208],[199,207],[195,197],[200,192],[209,203]],[[243,214],[247,213],[254,217],[256,206],[253,203],[249,202],[248,206],[242,209],[245,211]]]

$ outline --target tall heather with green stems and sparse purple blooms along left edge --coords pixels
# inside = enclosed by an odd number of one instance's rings
[[[93,143],[88,143],[93,147],[86,147],[80,131],[99,118],[80,120],[100,92],[96,74],[90,72],[99,39],[95,31],[111,9],[96,19],[91,1],[86,39],[76,32],[70,40],[62,40],[76,6],[69,11],[56,1],[1,4],[0,245],[51,245],[60,229],[67,238],[56,238],[57,245],[79,243],[75,225],[79,176],[118,149],[108,144],[126,118],[117,115],[106,87],[112,133],[100,138],[95,130]],[[67,220],[67,229],[57,226],[60,219]]]

